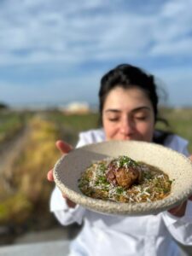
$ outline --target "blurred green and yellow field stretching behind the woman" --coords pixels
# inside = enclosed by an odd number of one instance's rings
[[[160,113],[170,123],[168,130],[189,140],[192,153],[192,109],[162,108]],[[57,224],[49,213],[55,185],[46,179],[61,156],[55,141],[63,139],[75,146],[79,131],[99,126],[98,114],[6,111],[0,113],[0,124],[0,226],[11,226],[15,233],[49,229]]]

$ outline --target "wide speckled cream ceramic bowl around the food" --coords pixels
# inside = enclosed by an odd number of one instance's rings
[[[78,180],[93,161],[127,155],[160,168],[173,180],[171,194],[153,202],[121,203],[102,201],[83,195]],[[192,194],[192,163],[183,154],[154,143],[110,141],[94,143],[71,151],[57,161],[55,183],[67,197],[92,211],[118,215],[156,214],[177,206]]]

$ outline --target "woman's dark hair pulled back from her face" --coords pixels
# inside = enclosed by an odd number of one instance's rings
[[[154,109],[154,121],[158,120],[158,102],[159,97],[157,95],[157,86],[154,82],[154,76],[144,72],[139,67],[134,67],[129,64],[121,64],[117,67],[111,69],[106,73],[101,79],[101,86],[99,90],[99,110],[100,117],[102,120],[102,110],[110,90],[115,87],[122,87],[124,89],[129,89],[133,86],[137,86],[139,89],[143,90],[148,100],[151,102]],[[166,120],[160,119],[161,121],[167,123]],[[166,135],[167,134],[167,135]],[[162,140],[154,141],[156,143],[163,143],[166,137],[170,133],[163,132]]]

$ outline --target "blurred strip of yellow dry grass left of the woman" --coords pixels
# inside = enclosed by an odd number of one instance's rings
[[[29,126],[26,147],[12,170],[12,192],[4,191],[7,194],[0,203],[1,223],[20,223],[20,219],[25,222],[39,212],[44,217],[49,215],[49,195],[54,184],[46,180],[46,174],[60,157],[55,148],[59,130],[53,123],[39,118],[32,119]]]

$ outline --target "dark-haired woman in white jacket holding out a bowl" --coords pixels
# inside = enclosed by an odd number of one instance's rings
[[[176,135],[154,130],[158,119],[158,96],[154,77],[131,65],[120,65],[102,77],[99,91],[103,128],[80,133],[77,147],[104,140],[158,142],[189,156],[187,142]],[[57,142],[61,152],[71,147]],[[48,179],[53,180],[52,172]],[[50,208],[61,224],[84,226],[72,242],[70,255],[177,255],[177,241],[192,245],[192,202],[169,212],[142,217],[110,216],[91,212],[51,195]],[[174,239],[173,239],[174,238]]]

